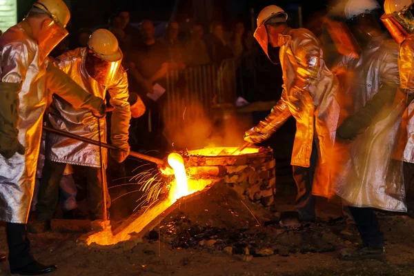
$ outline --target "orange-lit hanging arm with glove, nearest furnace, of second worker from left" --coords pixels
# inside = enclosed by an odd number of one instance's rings
[[[128,77],[124,69],[119,72],[119,79],[115,86],[108,90],[110,94],[110,105],[114,107],[111,117],[110,141],[114,146],[126,150],[123,156],[118,158],[117,153],[111,152],[112,157],[121,162],[128,156],[129,124],[131,118],[130,104],[128,103]],[[114,156],[115,155],[115,156]]]

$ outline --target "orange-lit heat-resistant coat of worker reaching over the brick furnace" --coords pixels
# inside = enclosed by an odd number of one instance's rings
[[[279,34],[279,59],[284,90],[270,115],[248,132],[273,133],[291,116],[296,119],[291,164],[310,167],[313,142],[319,164],[325,164],[326,151],[335,139],[339,106],[335,100],[338,81],[326,67],[320,41],[304,28],[288,28]],[[248,141],[246,132],[246,141]],[[253,141],[255,142],[255,141]],[[325,166],[318,174],[326,175]],[[316,177],[318,178],[318,177]]]

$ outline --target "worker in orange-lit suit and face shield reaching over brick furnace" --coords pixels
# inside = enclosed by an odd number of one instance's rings
[[[335,139],[339,107],[335,101],[338,82],[326,68],[322,45],[304,28],[292,29],[282,8],[268,6],[259,13],[255,38],[275,63],[273,49],[280,47],[284,90],[270,115],[248,130],[244,139],[260,143],[290,117],[296,119],[291,164],[297,185],[296,210],[301,221],[315,220],[313,182],[326,182],[326,150]],[[268,46],[270,44],[270,46]]]

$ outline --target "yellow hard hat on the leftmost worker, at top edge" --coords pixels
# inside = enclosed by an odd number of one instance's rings
[[[50,14],[53,20],[62,28],[66,28],[66,25],[68,25],[70,11],[63,0],[37,0],[33,6]]]

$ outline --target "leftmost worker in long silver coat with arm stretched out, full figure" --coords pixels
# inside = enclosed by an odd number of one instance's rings
[[[102,99],[88,94],[48,61],[50,51],[68,34],[69,19],[62,0],[39,0],[26,19],[0,37],[0,219],[6,221],[11,273],[56,270],[32,257],[26,235],[42,117],[51,95],[57,93],[95,116],[105,113]]]

